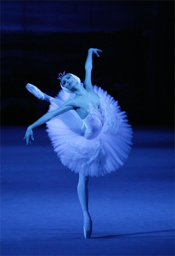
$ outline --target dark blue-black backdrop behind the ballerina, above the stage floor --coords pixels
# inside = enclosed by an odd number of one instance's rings
[[[130,124],[174,124],[174,1],[1,1],[1,124],[29,125],[48,109],[25,88],[55,96],[59,72],[92,83]]]

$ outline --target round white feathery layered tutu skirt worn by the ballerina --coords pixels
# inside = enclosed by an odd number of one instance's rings
[[[94,91],[104,102],[105,120],[100,134],[95,139],[85,139],[81,127],[83,121],[71,110],[54,117],[47,122],[48,136],[61,163],[75,173],[86,176],[104,176],[114,172],[127,159],[132,145],[133,130],[128,124],[125,112],[120,110],[118,101],[101,88],[94,86]],[[49,111],[54,111],[75,94],[61,90],[50,104]]]

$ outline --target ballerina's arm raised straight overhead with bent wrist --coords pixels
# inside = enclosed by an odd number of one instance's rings
[[[88,50],[88,57],[85,62],[85,80],[84,80],[85,89],[92,89],[92,82],[91,82],[91,72],[93,68],[92,55],[93,53],[95,53],[98,57],[100,57],[98,52],[100,53],[102,51],[96,48],[90,48]]]

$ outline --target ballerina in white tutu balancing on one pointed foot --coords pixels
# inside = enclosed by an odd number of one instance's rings
[[[47,114],[29,125],[24,139],[31,144],[35,127],[46,123],[47,132],[63,165],[79,173],[77,186],[84,215],[84,237],[90,238],[92,220],[88,209],[89,176],[98,177],[114,172],[127,159],[132,145],[132,127],[125,112],[120,110],[107,92],[92,86],[92,55],[102,51],[91,48],[85,62],[85,80],[73,74],[59,74],[59,94],[53,98],[33,84],[26,88],[38,99],[50,102]]]

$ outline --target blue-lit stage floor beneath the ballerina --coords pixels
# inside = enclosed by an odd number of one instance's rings
[[[174,255],[174,130],[133,127],[116,172],[89,180],[91,239],[83,235],[78,175],[44,127],[1,127],[1,255]]]

